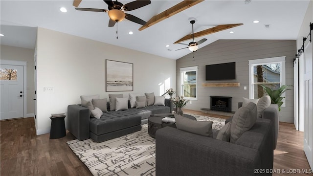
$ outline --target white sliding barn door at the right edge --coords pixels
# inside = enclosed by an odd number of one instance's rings
[[[313,59],[312,43],[304,49],[304,143],[303,148],[313,169]]]

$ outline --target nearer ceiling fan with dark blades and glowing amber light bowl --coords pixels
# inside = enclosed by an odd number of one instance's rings
[[[144,25],[146,22],[135,17],[134,15],[125,13],[127,11],[135,10],[140,7],[146,6],[151,3],[150,0],[135,0],[129,2],[127,4],[122,4],[121,2],[112,1],[112,0],[103,0],[105,3],[108,4],[108,9],[96,9],[96,8],[75,8],[76,10],[81,11],[91,11],[91,12],[108,12],[110,17],[109,27],[113,27],[116,22],[121,22],[125,19],[136,22],[138,24]]]

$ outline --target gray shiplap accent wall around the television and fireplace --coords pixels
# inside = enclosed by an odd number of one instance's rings
[[[178,52],[178,51],[177,51]],[[286,85],[293,85],[293,58],[295,40],[218,40],[202,47],[195,54],[188,54],[176,61],[177,91],[180,95],[179,68],[198,66],[198,100],[188,103],[185,109],[210,108],[210,96],[232,97],[232,111],[238,110],[238,102],[249,98],[248,60],[286,56]],[[205,81],[205,65],[236,62],[236,80]],[[223,70],[221,70],[223,71]],[[202,83],[239,82],[240,87],[203,87]],[[247,87],[245,90],[244,87]],[[292,87],[291,87],[292,88]],[[293,88],[292,88],[293,89]],[[280,121],[293,122],[293,90],[286,91],[286,107],[279,112]]]

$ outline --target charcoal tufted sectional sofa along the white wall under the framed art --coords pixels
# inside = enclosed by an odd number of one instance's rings
[[[128,101],[128,110],[112,110],[103,112],[100,119],[90,117],[90,110],[80,105],[68,105],[68,131],[78,140],[93,139],[96,142],[106,141],[131,132],[141,130],[141,124],[148,122],[148,117],[157,113],[170,113],[171,104],[165,99],[165,106],[152,105],[146,108],[131,108]],[[110,110],[110,103],[107,102]]]

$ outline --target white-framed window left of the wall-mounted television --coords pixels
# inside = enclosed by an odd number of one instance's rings
[[[186,99],[198,100],[198,66],[180,68],[181,92]]]

